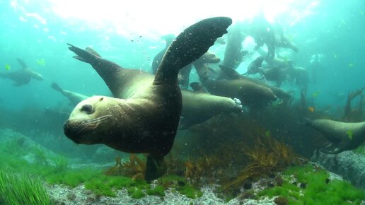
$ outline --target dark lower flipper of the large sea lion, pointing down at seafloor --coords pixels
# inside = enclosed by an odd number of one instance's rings
[[[161,177],[161,175],[166,172],[166,169],[166,163],[165,160],[163,160],[163,156],[151,156],[151,154],[148,154],[146,162],[146,173],[144,178],[147,182],[156,180],[158,177]]]

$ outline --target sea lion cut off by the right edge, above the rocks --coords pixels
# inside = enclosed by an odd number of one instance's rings
[[[337,122],[330,119],[306,119],[305,124],[320,131],[331,142],[323,153],[337,154],[357,148],[365,141],[365,122]]]

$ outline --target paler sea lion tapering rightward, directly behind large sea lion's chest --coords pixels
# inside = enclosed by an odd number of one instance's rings
[[[182,95],[182,119],[179,129],[187,129],[193,124],[205,122],[219,114],[242,112],[242,106],[237,100],[211,95],[204,90],[201,83],[190,83],[194,92],[184,90]]]

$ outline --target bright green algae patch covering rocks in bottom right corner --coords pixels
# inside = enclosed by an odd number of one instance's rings
[[[365,199],[362,189],[353,187],[349,182],[329,180],[327,171],[313,165],[291,167],[284,171],[281,187],[272,187],[257,195],[268,197],[285,197],[289,204],[361,204]],[[294,176],[296,183],[289,180]],[[297,185],[306,185],[300,188]]]

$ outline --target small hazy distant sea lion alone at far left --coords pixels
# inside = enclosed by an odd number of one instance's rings
[[[43,80],[43,76],[29,69],[22,59],[17,60],[18,63],[21,64],[22,69],[19,71],[1,73],[1,78],[8,78],[12,81],[15,81],[14,86],[23,86],[25,84],[28,84],[32,78],[38,81]]]

